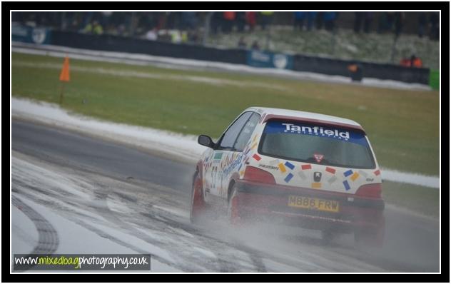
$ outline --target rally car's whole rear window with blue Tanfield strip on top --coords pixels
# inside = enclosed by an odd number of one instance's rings
[[[365,134],[348,128],[268,121],[258,151],[265,156],[345,168],[375,168]]]

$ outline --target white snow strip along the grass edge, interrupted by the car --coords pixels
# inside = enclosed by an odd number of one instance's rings
[[[22,98],[11,97],[11,115],[36,119],[64,128],[101,135],[123,143],[131,143],[135,146],[163,151],[190,162],[198,161],[206,149],[206,147],[197,143],[197,136],[186,136],[153,128],[98,121],[86,116],[74,116],[51,103],[36,103]],[[430,188],[440,187],[440,178],[425,176],[420,173],[403,173],[392,169],[383,169],[382,178],[387,181],[417,184]]]

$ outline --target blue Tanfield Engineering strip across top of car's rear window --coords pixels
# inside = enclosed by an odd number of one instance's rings
[[[283,121],[268,121],[265,133],[288,133],[332,138],[368,146],[365,134],[340,127],[318,126],[308,123],[292,123]]]

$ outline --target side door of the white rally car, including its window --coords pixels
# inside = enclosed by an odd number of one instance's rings
[[[209,185],[208,192],[213,196],[221,195],[221,176],[225,167],[225,158],[226,156],[229,156],[230,153],[233,153],[233,146],[236,138],[252,114],[252,111],[246,111],[238,116],[238,118],[228,126],[218,143],[216,143],[216,147],[213,149],[211,166],[208,168],[208,172],[206,172],[205,175],[206,183]]]

